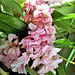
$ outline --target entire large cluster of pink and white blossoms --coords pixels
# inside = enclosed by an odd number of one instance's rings
[[[62,62],[57,55],[61,49],[53,46],[56,30],[52,26],[51,13],[54,9],[49,8],[47,2],[54,3],[54,0],[26,0],[23,12],[29,35],[19,43],[17,36],[9,34],[6,45],[0,47],[0,61],[14,72],[27,74],[25,66],[32,59],[31,68],[40,66],[39,75],[49,71],[56,74],[54,69]]]

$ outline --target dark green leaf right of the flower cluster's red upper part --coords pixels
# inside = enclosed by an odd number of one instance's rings
[[[61,28],[64,28],[65,30],[67,30],[67,32],[71,33],[71,24],[69,22],[69,20],[65,19],[61,19],[61,17],[65,16],[63,13],[59,12],[58,10],[55,10],[52,14],[53,17],[53,22],[55,25],[60,26]],[[61,20],[59,20],[61,19]]]

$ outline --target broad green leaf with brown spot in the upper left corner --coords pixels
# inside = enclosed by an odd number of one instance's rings
[[[13,15],[13,9],[16,9],[21,16],[23,16],[22,8],[14,0],[0,0],[0,3],[3,5],[4,9]]]

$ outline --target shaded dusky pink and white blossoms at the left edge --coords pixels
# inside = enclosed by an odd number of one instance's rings
[[[16,40],[12,42],[13,39]],[[4,42],[2,42],[0,46],[0,61],[2,61],[7,68],[10,68],[11,63],[20,55],[18,37],[15,34],[9,34],[7,41],[5,39],[1,40]]]

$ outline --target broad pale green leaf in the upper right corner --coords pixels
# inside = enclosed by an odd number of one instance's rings
[[[75,1],[72,1],[71,3],[73,3],[75,5]],[[75,7],[70,6],[67,3],[62,4],[61,6],[54,6],[52,8],[54,8],[56,11],[60,12],[63,15],[70,14],[70,13],[75,13],[75,10],[74,10]]]

